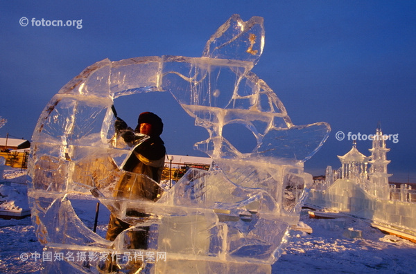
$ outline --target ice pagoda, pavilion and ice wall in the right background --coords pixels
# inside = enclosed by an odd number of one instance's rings
[[[376,133],[368,136],[370,156],[352,149],[338,156],[341,167],[327,167],[325,179],[315,181],[306,200],[315,208],[311,216],[349,214],[366,219],[371,226],[392,235],[416,242],[416,190],[407,183],[389,183],[387,140],[398,142],[399,134],[383,134],[380,124]]]

